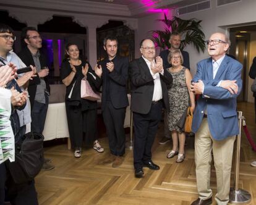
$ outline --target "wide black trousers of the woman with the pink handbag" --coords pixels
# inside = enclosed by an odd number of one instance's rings
[[[82,111],[80,106],[71,106],[66,102],[67,125],[72,148],[81,148],[83,145],[83,133],[85,143],[93,143],[97,134],[97,110]]]

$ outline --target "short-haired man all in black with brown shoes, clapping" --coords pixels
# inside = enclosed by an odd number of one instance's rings
[[[129,105],[126,91],[129,60],[117,55],[117,38],[108,36],[103,43],[108,57],[99,63],[103,71],[101,109],[110,149],[103,164],[113,162],[112,167],[119,167],[124,161],[126,143],[124,118]]]

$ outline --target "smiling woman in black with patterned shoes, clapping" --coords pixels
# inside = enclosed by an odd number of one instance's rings
[[[101,79],[93,71],[88,62],[79,58],[79,49],[76,44],[67,44],[67,58],[61,65],[61,80],[66,85],[66,113],[69,126],[69,137],[74,156],[81,156],[83,136],[85,143],[93,143],[93,149],[102,153],[104,149],[96,138],[97,135],[97,102],[82,99],[80,86],[83,77],[86,77],[93,91],[98,91]],[[85,133],[85,135],[83,135]]]

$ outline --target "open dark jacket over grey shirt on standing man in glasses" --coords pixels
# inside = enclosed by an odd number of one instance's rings
[[[23,48],[22,51],[19,52],[18,56],[20,57],[20,59],[22,59],[24,64],[26,64],[27,66],[29,65],[35,66],[32,53],[27,47]],[[47,66],[46,56],[41,52],[40,52],[39,59],[40,59],[41,67]],[[48,77],[44,77],[44,80],[46,83],[46,90],[50,92]],[[34,77],[33,80],[29,80],[29,85],[28,85],[28,94],[30,96],[29,99],[30,99],[31,109],[33,108],[33,104],[35,102],[36,86],[38,84],[40,84],[40,77],[38,76],[38,74],[36,74],[36,77]]]

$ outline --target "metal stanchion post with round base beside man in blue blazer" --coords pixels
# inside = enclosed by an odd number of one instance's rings
[[[242,129],[242,112],[238,111],[239,135],[236,138],[236,161],[234,167],[234,187],[229,192],[230,203],[249,203],[251,196],[246,190],[238,188],[239,185],[239,165],[240,165],[240,148],[241,148],[241,129]]]

